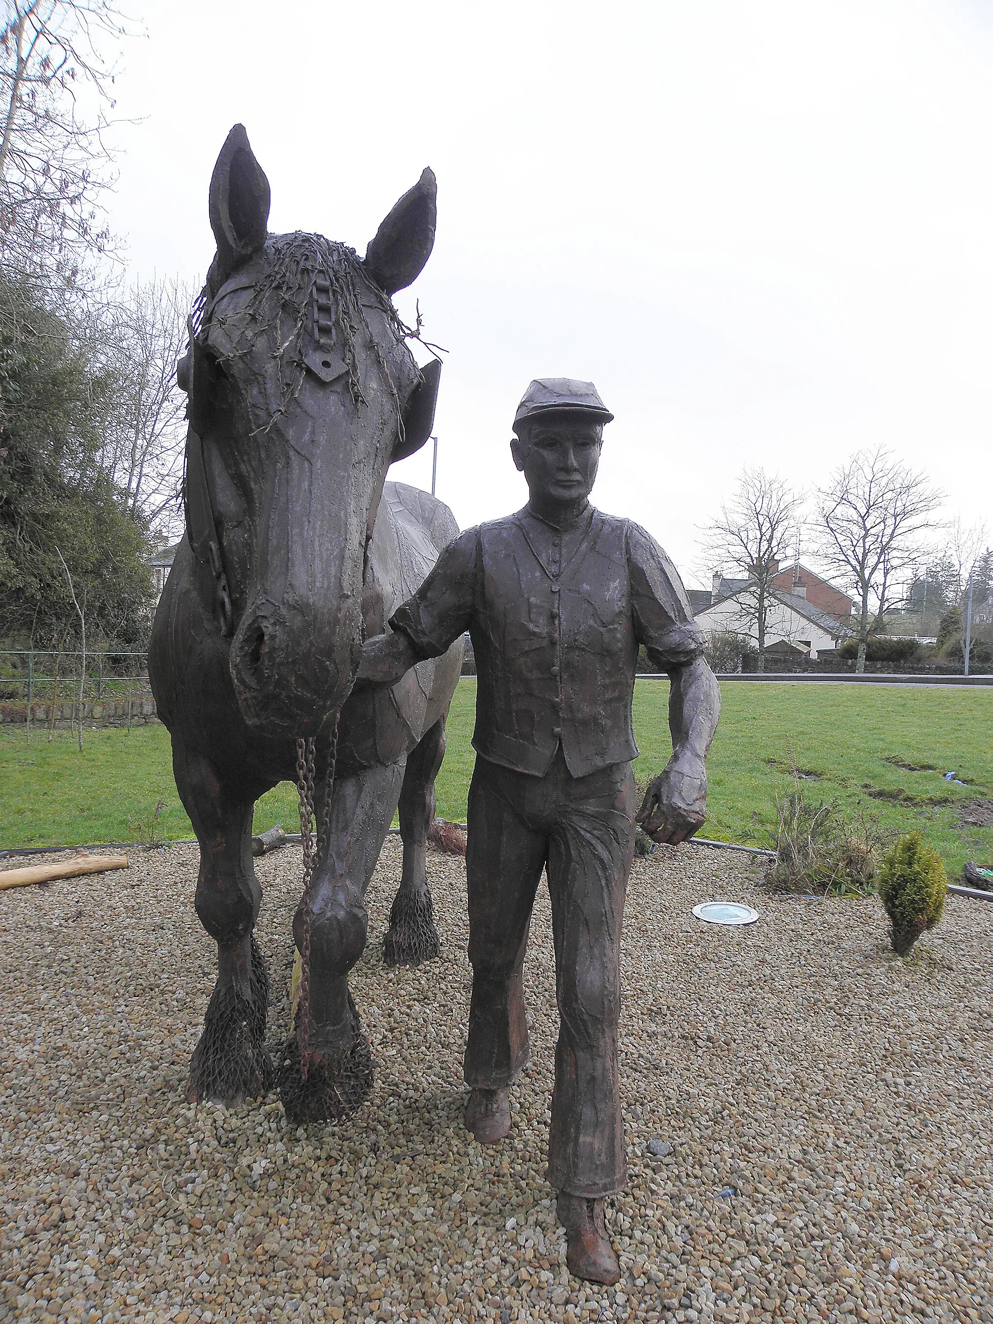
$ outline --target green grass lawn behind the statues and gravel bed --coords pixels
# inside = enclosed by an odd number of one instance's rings
[[[667,681],[639,681],[634,730],[645,781],[670,752]],[[955,828],[957,806],[993,798],[993,690],[902,686],[723,686],[723,714],[708,759],[710,818],[704,837],[768,845],[773,794],[789,785],[789,759],[817,775],[809,796],[878,813],[894,831],[918,829],[955,878],[965,859],[993,861],[993,828]],[[437,782],[438,813],[465,821],[473,771],[475,681],[455,692],[448,751]],[[176,794],[164,727],[83,732],[0,733],[0,847],[132,841],[147,834],[164,801],[166,837],[192,837]],[[900,767],[900,764],[908,767]],[[918,771],[911,771],[914,765]],[[925,767],[929,765],[929,767]],[[955,769],[968,786],[945,782]],[[874,794],[873,794],[874,793]],[[289,782],[256,806],[256,829],[297,825]],[[136,828],[135,825],[140,825]]]

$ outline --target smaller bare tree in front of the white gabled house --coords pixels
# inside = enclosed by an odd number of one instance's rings
[[[731,502],[720,507],[720,518],[704,530],[708,569],[736,571],[744,577],[736,602],[740,624],[755,633],[760,671],[765,670],[765,634],[776,605],[772,580],[797,545],[802,502],[781,478],[745,469]]]

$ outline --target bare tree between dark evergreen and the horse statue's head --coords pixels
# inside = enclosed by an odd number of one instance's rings
[[[93,318],[90,330],[115,383],[102,466],[127,512],[167,532],[183,477],[185,396],[176,383],[176,360],[185,352],[192,299],[177,277],[135,282]]]

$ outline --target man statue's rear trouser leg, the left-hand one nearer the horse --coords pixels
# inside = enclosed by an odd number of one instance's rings
[[[465,1076],[474,1088],[510,1084],[528,1055],[523,964],[545,835],[528,829],[512,808],[510,792],[520,776],[478,759],[469,788],[473,998]]]

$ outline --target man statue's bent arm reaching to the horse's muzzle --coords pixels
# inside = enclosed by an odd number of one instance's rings
[[[389,618],[393,633],[376,634],[363,645],[357,681],[396,685],[412,666],[446,653],[469,629],[477,548],[474,528],[442,548],[424,584]]]

